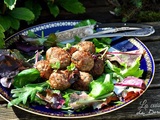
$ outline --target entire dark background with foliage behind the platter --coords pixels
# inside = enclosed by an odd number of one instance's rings
[[[1,0],[0,42],[29,26],[57,20],[157,22],[159,6],[158,0]]]

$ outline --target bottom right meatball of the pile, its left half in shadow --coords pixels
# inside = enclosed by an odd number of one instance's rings
[[[80,71],[80,79],[73,83],[72,87],[76,90],[89,90],[89,83],[93,80],[91,74]]]

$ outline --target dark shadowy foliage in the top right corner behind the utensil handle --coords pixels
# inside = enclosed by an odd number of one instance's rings
[[[122,18],[122,22],[153,22],[160,20],[160,11],[156,0],[108,0],[114,15]],[[157,8],[156,8],[157,6]]]

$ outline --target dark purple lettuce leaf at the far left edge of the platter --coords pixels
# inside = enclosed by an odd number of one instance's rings
[[[6,53],[5,53],[6,52]],[[0,51],[0,83],[3,87],[9,88],[13,82],[13,78],[25,67],[22,61],[16,57],[7,55],[7,51]]]

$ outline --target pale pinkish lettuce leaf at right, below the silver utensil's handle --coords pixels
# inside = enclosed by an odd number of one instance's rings
[[[131,66],[137,58],[141,58],[145,54],[145,51],[142,50],[133,50],[128,52],[108,52],[106,54],[107,59],[110,61],[117,61],[120,65]]]

